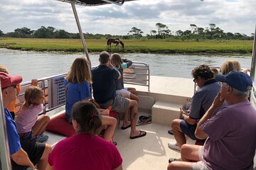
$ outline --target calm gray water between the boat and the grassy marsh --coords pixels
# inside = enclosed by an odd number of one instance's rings
[[[99,53],[90,54],[92,66],[98,64]],[[83,56],[81,52],[33,52],[0,48],[0,64],[9,73],[22,75],[23,82],[68,72],[73,60]],[[199,64],[220,67],[225,60],[238,60],[242,68],[250,68],[252,57],[239,55],[159,55],[126,53],[123,55],[136,62],[149,64],[153,76],[191,78],[191,70]]]

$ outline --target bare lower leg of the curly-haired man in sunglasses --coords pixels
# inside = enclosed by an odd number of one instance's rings
[[[186,144],[186,137],[183,134],[180,127],[181,119],[174,119],[171,121],[171,129],[173,130],[175,140],[178,147],[181,148],[183,144]]]

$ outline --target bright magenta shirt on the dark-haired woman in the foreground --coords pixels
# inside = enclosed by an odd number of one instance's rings
[[[48,163],[54,170],[112,170],[122,164],[122,157],[111,142],[81,133],[58,142],[48,156]]]

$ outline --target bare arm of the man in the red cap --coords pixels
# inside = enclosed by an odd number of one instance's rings
[[[14,162],[18,165],[28,166],[35,169],[35,166],[28,158],[28,154],[22,148],[19,149],[18,152],[11,154],[11,159],[13,159]]]

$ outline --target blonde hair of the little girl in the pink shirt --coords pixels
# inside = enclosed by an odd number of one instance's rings
[[[38,106],[40,103],[36,103],[35,101],[41,97],[43,91],[38,86],[29,86],[24,94],[25,103],[22,108],[28,108],[29,106]]]

